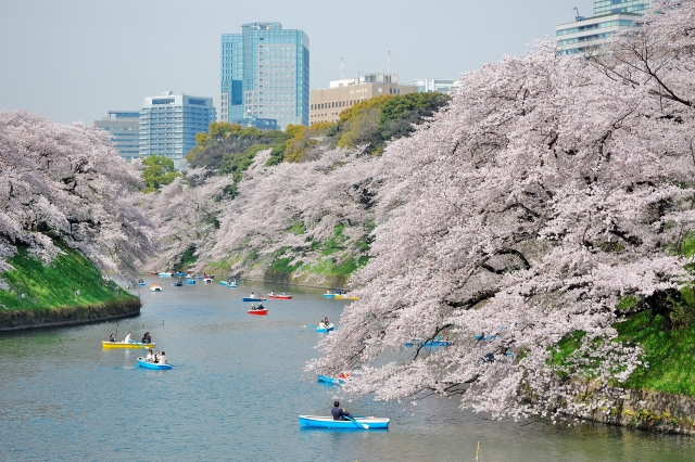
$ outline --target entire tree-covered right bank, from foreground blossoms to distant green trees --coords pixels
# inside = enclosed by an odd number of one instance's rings
[[[352,274],[361,299],[308,364],[353,371],[351,394],[457,395],[495,418],[582,415],[598,405],[580,386],[692,395],[665,355],[690,356],[695,320],[694,24],[695,1],[656,2],[610,49],[539,42],[444,105],[370,100],[258,151],[223,130],[150,195],[166,261]],[[404,347],[438,337],[453,345]]]

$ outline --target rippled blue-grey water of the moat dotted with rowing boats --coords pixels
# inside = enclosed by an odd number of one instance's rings
[[[148,285],[154,278],[146,279]],[[342,405],[391,418],[388,432],[301,429],[299,414],[328,414],[340,389],[303,371],[348,303],[293,288],[249,316],[251,293],[286,286],[195,284],[151,293],[130,320],[0,336],[0,460],[685,461],[691,437],[599,424],[491,422],[456,399],[417,407]],[[150,331],[170,371],[138,368],[144,350],[104,350],[117,329]],[[342,397],[341,397],[342,398]]]

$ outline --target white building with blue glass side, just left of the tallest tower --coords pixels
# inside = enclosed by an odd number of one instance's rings
[[[184,157],[195,146],[195,133],[215,121],[212,98],[174,94],[147,97],[140,111],[140,156],[163,155],[185,168]]]

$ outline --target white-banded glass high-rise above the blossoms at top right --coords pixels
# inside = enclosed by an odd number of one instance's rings
[[[594,15],[574,17],[573,23],[555,27],[559,54],[599,49],[620,30],[636,27],[653,0],[594,0]]]

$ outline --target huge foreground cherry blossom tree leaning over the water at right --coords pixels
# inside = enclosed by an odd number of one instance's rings
[[[640,365],[619,301],[667,313],[692,284],[695,2],[659,4],[596,60],[540,42],[462,77],[383,155],[362,298],[308,370],[349,394],[462,395],[494,418],[582,414]],[[446,348],[407,349],[443,336]],[[561,361],[563,339],[578,347]]]

